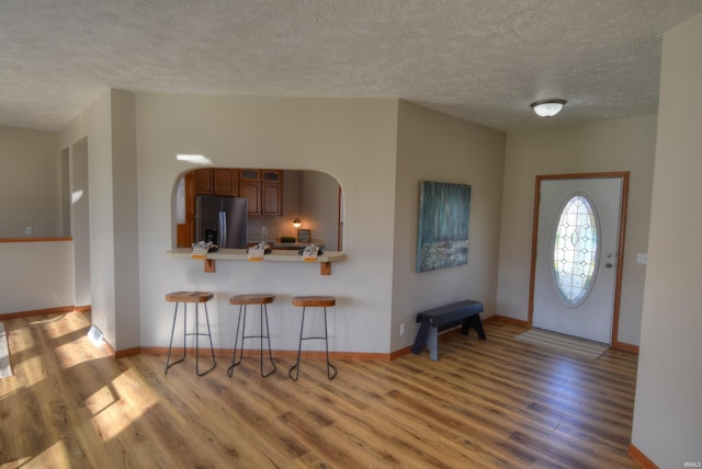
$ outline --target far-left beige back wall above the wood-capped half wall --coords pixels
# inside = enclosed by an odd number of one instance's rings
[[[0,238],[63,236],[58,137],[0,126]]]

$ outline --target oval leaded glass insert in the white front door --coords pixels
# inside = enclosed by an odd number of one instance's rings
[[[585,302],[597,275],[599,244],[593,207],[585,194],[570,196],[555,229],[555,289],[561,301],[573,308]]]

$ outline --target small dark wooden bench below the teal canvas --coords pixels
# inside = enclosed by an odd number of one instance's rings
[[[437,362],[439,332],[456,325],[461,325],[461,333],[464,335],[467,335],[468,329],[473,328],[477,331],[479,339],[486,340],[480,312],[483,312],[482,302],[466,299],[417,313],[417,322],[421,322],[421,325],[415,339],[412,353],[419,354],[426,345],[429,348],[429,357]]]

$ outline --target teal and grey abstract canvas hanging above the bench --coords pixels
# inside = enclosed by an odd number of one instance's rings
[[[469,185],[420,182],[417,272],[468,263],[469,215]]]

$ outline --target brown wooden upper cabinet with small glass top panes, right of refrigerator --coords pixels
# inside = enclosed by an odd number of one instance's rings
[[[239,197],[249,201],[249,216],[281,215],[282,184],[280,170],[239,170]]]

